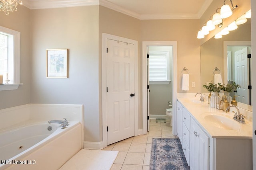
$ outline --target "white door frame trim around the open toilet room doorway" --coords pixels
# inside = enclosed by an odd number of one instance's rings
[[[149,130],[149,79],[148,79],[148,48],[172,47],[172,133],[176,135],[176,100],[177,100],[177,42],[176,41],[143,41],[142,42],[142,119],[143,133]]]

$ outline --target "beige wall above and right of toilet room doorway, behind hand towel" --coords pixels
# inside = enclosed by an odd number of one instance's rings
[[[177,41],[178,93],[200,92],[200,40],[196,38],[199,20],[141,20],[141,41]],[[190,71],[189,91],[182,91],[182,69]],[[196,87],[191,84],[195,82]]]

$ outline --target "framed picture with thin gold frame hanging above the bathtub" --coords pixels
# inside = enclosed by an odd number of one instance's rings
[[[68,49],[46,50],[46,77],[68,78]]]

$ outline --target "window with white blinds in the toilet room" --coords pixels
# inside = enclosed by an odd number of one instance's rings
[[[170,60],[168,51],[149,53],[149,81],[170,81]]]

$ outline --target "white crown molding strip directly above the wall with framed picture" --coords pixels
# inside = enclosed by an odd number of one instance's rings
[[[99,5],[99,0],[22,0],[30,10]]]

